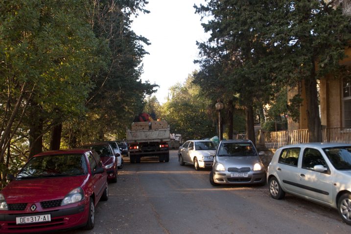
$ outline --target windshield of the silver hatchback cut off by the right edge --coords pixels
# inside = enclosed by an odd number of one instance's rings
[[[351,170],[351,147],[332,147],[323,149],[329,161],[337,170]]]

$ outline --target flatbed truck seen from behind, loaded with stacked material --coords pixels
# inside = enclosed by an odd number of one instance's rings
[[[133,122],[127,129],[129,158],[132,164],[142,157],[158,157],[159,162],[169,161],[169,125],[164,120]]]

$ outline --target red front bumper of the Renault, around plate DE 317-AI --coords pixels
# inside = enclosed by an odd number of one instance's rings
[[[46,223],[16,224],[16,217],[35,214],[51,215],[51,221]],[[37,213],[7,212],[0,213],[0,233],[50,233],[57,230],[67,230],[82,227],[87,223],[89,214],[89,203],[73,208],[42,211]]]

